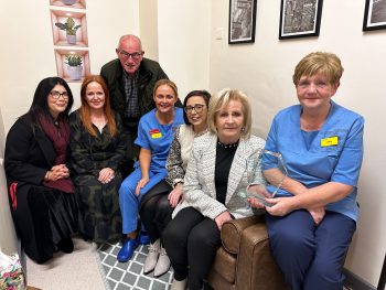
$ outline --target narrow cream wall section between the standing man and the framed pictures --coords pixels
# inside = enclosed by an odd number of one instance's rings
[[[159,0],[159,61],[179,87],[180,98],[208,89],[211,1]]]

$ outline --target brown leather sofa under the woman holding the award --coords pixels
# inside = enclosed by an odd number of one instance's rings
[[[290,289],[269,249],[264,216],[227,222],[207,282],[215,290]]]

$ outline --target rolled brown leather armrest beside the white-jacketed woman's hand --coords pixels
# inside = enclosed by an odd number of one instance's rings
[[[264,215],[253,215],[224,223],[221,236],[225,250],[238,254],[243,230],[257,223],[264,223]]]

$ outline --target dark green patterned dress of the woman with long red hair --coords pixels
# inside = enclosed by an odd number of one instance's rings
[[[79,210],[83,216],[81,234],[103,243],[121,237],[119,187],[122,181],[119,167],[127,150],[127,135],[119,116],[115,115],[118,133],[110,137],[107,125],[97,137],[87,132],[78,110],[69,116],[71,172],[76,185]],[[107,184],[98,181],[99,171],[110,168],[115,178]]]

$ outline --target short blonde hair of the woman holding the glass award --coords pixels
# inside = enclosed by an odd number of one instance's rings
[[[305,55],[294,67],[292,76],[297,86],[302,76],[324,75],[332,85],[339,84],[344,68],[341,60],[333,53],[313,52]]]

